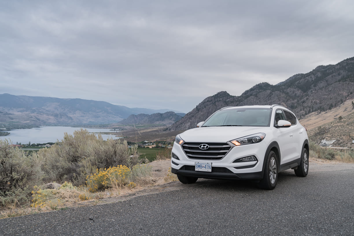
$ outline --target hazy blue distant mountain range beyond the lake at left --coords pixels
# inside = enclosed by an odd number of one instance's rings
[[[63,99],[0,94],[0,123],[22,122],[32,125],[113,123],[126,119],[132,114],[150,115],[167,111],[174,110],[128,108],[108,102],[78,98]],[[180,111],[174,112],[181,113]]]

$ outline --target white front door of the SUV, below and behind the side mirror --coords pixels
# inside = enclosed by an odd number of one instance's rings
[[[274,127],[278,124],[279,120],[286,120],[284,111],[282,109],[277,109],[274,116]],[[294,152],[295,144],[293,137],[293,127],[278,127],[275,130],[275,136],[277,137],[277,142],[280,149],[280,165],[289,162],[292,159],[292,152]]]

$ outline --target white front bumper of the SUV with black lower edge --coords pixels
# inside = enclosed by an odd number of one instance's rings
[[[266,150],[267,144],[260,142],[257,144],[234,146],[221,160],[197,160],[189,159],[185,155],[182,146],[174,143],[172,152],[178,156],[179,160],[172,158],[171,172],[206,179],[262,179]],[[233,163],[236,159],[246,156],[256,156],[258,161]],[[212,167],[227,168],[229,173],[193,171],[182,168],[183,166],[194,166],[195,162],[211,162]]]

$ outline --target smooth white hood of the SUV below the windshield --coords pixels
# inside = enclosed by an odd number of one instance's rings
[[[249,127],[249,126],[215,126],[199,127],[188,129],[180,134],[185,142],[222,142],[226,143],[233,139],[242,138],[255,133],[265,133],[270,127]]]

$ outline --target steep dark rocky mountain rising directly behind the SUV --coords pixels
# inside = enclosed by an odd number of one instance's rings
[[[226,91],[205,98],[171,130],[194,128],[222,107],[280,104],[291,109],[299,119],[309,113],[321,113],[337,107],[354,95],[354,57],[336,65],[320,65],[306,74],[296,74],[276,85],[257,84],[240,96]]]

